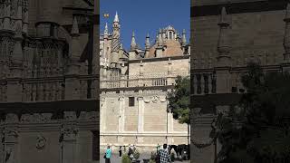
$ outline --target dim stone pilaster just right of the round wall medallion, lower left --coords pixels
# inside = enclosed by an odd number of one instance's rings
[[[63,163],[76,163],[77,161],[77,138],[76,114],[74,111],[65,111],[63,120]]]

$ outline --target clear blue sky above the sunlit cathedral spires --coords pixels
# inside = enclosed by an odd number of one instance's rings
[[[111,24],[116,11],[121,23],[121,43],[128,50],[131,43],[132,31],[135,39],[143,48],[147,33],[153,42],[160,28],[171,24],[182,33],[187,32],[189,43],[190,30],[190,0],[100,0],[101,10],[101,34],[103,34],[105,23]],[[110,14],[105,18],[103,14]]]

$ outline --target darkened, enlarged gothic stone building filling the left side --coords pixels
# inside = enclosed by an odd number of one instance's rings
[[[98,159],[97,3],[0,2],[1,163]]]

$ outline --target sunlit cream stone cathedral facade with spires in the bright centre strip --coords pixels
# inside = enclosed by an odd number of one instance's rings
[[[131,49],[126,51],[118,14],[109,29],[106,24],[100,40],[102,148],[131,144],[152,150],[163,143],[188,144],[188,125],[179,124],[167,112],[167,95],[176,77],[189,76],[185,31],[178,34],[169,25],[153,42],[148,34],[144,48],[133,33]]]

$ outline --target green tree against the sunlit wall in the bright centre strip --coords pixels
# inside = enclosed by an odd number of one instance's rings
[[[179,123],[190,123],[190,78],[178,76],[173,91],[169,93],[169,110]]]

